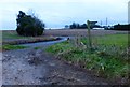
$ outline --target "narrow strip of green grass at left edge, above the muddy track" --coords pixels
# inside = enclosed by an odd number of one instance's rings
[[[11,50],[11,49],[24,49],[27,46],[20,46],[20,45],[2,45],[2,50]]]

